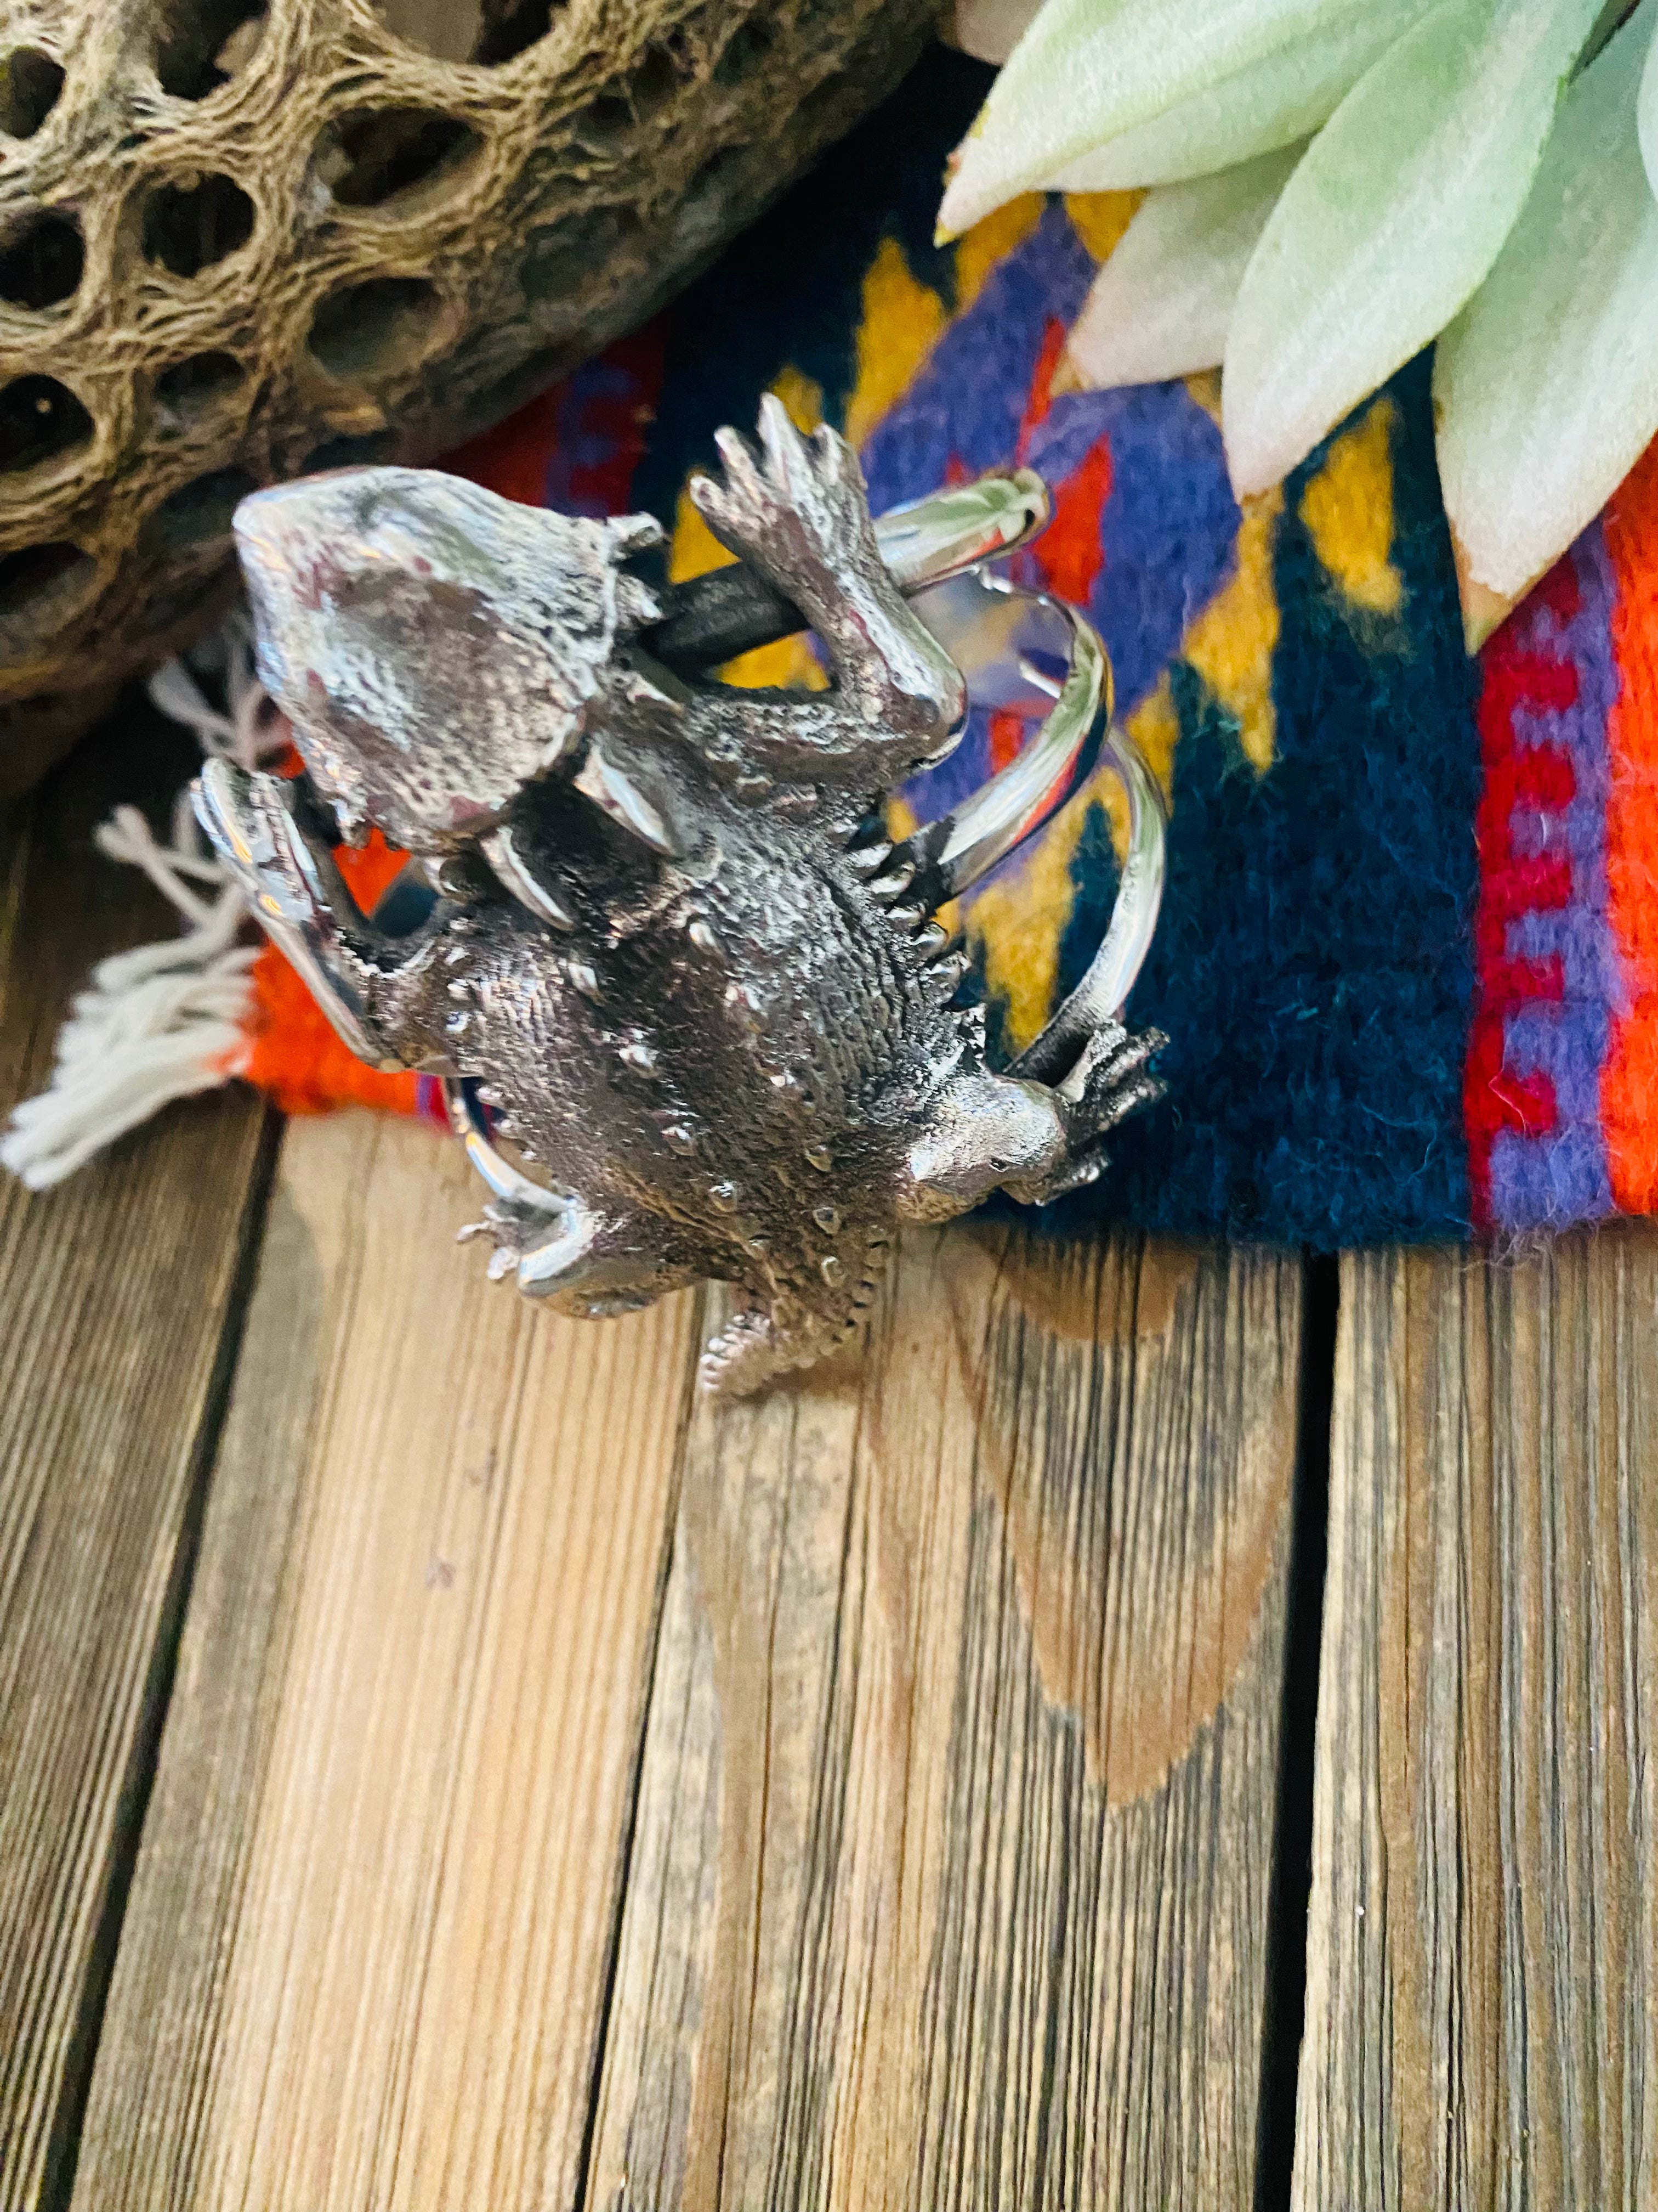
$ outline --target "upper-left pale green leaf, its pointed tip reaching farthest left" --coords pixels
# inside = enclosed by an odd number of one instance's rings
[[[962,142],[940,230],[968,230],[1105,139],[1333,24],[1417,11],[1417,0],[1048,0]]]

